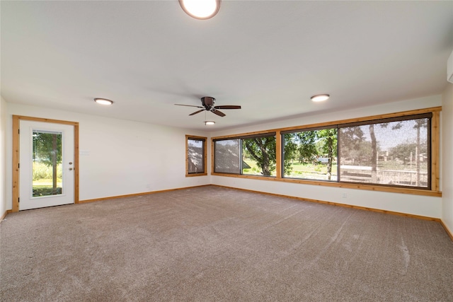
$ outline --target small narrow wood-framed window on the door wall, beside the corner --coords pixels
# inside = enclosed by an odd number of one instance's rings
[[[206,137],[185,136],[186,168],[185,175],[197,176],[206,173]]]

